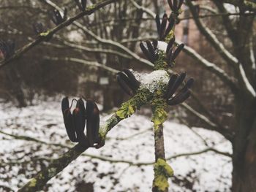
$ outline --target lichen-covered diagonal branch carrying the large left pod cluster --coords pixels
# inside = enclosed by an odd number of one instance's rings
[[[113,114],[104,125],[99,128],[99,145],[97,147],[102,147],[105,145],[105,139],[114,126],[116,126],[121,120],[128,118],[130,115],[139,110],[143,104],[146,104],[151,99],[151,94],[145,90],[139,90],[134,97],[122,104],[121,108]],[[132,110],[131,110],[132,109]],[[68,166],[72,161],[78,158],[81,153],[87,150],[89,147],[82,147],[81,145],[75,145],[69,149],[64,155],[56,160],[53,160],[48,167],[42,169],[33,177],[26,185],[20,188],[18,191],[39,191],[42,190],[44,185],[51,178],[55,177],[56,174],[61,172],[66,166]]]

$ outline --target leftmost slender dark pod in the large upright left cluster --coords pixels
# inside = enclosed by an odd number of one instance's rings
[[[78,138],[75,134],[75,123],[69,109],[69,99],[67,97],[65,97],[61,101],[61,110],[63,114],[64,125],[67,131],[67,136],[69,137],[70,141],[78,142]]]

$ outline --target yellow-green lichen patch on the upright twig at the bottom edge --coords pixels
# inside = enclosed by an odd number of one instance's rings
[[[168,178],[173,176],[173,169],[162,158],[154,164],[153,187],[158,191],[165,191],[169,187]]]

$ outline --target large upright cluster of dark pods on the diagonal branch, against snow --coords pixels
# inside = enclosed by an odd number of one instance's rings
[[[69,106],[69,99],[65,97],[61,102],[61,110],[64,118],[64,125],[67,135],[72,142],[78,142],[83,147],[93,147],[99,142],[99,109],[91,99],[86,100],[86,107],[83,99],[76,101],[76,107],[71,112],[72,104]],[[86,135],[84,129],[86,126]]]

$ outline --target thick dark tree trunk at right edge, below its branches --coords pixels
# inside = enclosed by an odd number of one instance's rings
[[[256,99],[236,104],[232,191],[256,191]]]

